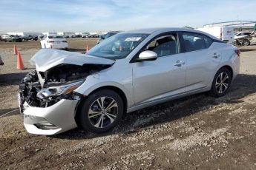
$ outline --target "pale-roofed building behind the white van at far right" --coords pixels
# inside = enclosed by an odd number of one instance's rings
[[[256,21],[226,21],[226,22],[206,24],[204,25],[204,27],[229,26],[229,27],[234,27],[234,32],[240,32],[240,31],[253,31],[255,24],[256,24]]]

